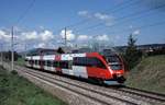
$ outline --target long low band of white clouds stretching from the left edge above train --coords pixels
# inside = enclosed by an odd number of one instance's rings
[[[67,35],[67,40],[74,40],[68,42],[67,44],[69,46],[74,46],[75,44],[78,45],[88,45],[92,42],[99,42],[99,43],[105,43],[110,39],[108,35],[98,35],[98,36],[89,36],[89,35],[78,35],[73,33],[72,30],[67,30],[66,32]],[[63,38],[65,38],[65,31],[63,30],[58,35],[54,35],[52,31],[48,30],[43,30],[43,31],[23,31],[20,30],[19,33],[15,32],[14,36],[14,44],[16,43],[18,45],[14,45],[14,48],[16,50],[24,50],[24,46],[26,44],[28,49],[32,48],[55,48],[61,46],[59,42],[64,42]],[[4,42],[6,45],[10,45],[11,42],[11,35],[8,30],[0,30],[0,42]]]

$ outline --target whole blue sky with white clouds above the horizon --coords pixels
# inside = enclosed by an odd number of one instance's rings
[[[1,49],[165,44],[164,0],[0,0]]]

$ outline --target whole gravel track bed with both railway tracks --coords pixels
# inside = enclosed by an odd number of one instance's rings
[[[24,67],[16,66],[16,70],[21,70],[32,77],[36,77],[41,80],[54,83],[77,94],[84,95],[91,98],[98,103],[108,104],[129,104],[129,105],[161,105],[164,104],[164,96],[158,97],[157,95],[146,95],[142,92],[134,91],[129,88],[102,88],[98,85],[92,85],[89,83],[80,82],[77,80],[72,80],[68,78],[59,77],[52,73],[45,73],[37,70],[32,70]],[[44,77],[44,78],[43,78]],[[130,90],[130,91],[129,91]],[[146,92],[143,92],[146,93]]]

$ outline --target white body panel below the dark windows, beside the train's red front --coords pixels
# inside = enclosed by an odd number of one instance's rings
[[[88,78],[87,68],[80,66],[73,66],[74,75]]]

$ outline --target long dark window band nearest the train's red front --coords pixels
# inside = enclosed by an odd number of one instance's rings
[[[106,66],[96,57],[75,57],[74,66],[87,66],[87,67],[98,67],[106,69]]]

